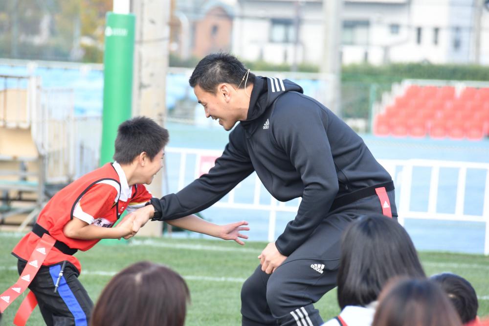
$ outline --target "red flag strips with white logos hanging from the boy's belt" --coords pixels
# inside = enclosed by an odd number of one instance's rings
[[[41,240],[39,240],[36,249],[32,252],[31,256],[27,260],[27,263],[22,271],[20,278],[17,282],[10,286],[5,292],[0,295],[0,312],[3,313],[5,309],[17,299],[22,292],[24,292],[32,279],[36,276],[37,272],[41,268],[44,260],[54,246],[56,240],[49,234],[43,234]],[[15,325],[25,325],[25,322],[29,318],[32,310],[37,305],[36,297],[32,292],[25,297],[17,314],[15,315]]]

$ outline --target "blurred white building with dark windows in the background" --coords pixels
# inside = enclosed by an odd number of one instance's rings
[[[489,65],[483,1],[344,0],[342,61],[469,63],[478,39],[479,62]],[[245,60],[317,65],[323,15],[322,0],[237,0],[232,50]]]

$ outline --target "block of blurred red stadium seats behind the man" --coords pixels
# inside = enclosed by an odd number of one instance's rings
[[[410,85],[376,119],[379,136],[480,140],[489,135],[489,88]]]

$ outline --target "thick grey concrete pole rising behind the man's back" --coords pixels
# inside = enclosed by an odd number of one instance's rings
[[[319,99],[341,117],[342,0],[323,0],[323,58],[320,65],[324,98]]]

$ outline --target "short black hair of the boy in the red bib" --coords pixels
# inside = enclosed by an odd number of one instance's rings
[[[154,120],[146,116],[133,117],[119,125],[113,159],[121,164],[130,164],[136,156],[146,152],[153,160],[168,140],[168,130]]]

